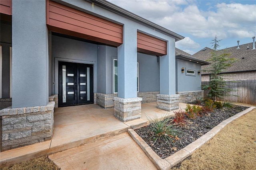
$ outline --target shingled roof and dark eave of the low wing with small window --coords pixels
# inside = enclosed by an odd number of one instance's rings
[[[192,63],[198,63],[201,65],[208,65],[210,63],[200,60],[200,59],[196,59],[195,57],[193,57],[192,55],[186,53],[185,51],[182,51],[180,49],[175,48],[175,59],[181,59],[184,61],[190,61]]]

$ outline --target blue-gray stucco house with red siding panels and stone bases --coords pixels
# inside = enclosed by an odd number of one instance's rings
[[[12,105],[0,111],[1,150],[51,139],[54,107],[98,104],[130,121],[141,117],[142,102],[170,111],[178,109],[176,90],[199,90],[195,59],[190,66],[178,58],[195,76],[176,79],[175,42],[184,37],[108,1],[5,0],[0,7],[1,108]],[[193,88],[176,87],[192,77]]]

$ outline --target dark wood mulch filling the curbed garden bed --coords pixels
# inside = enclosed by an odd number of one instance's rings
[[[215,109],[213,112],[202,117],[197,117],[196,119],[187,119],[185,127],[175,127],[175,129],[178,129],[183,133],[181,134],[180,140],[174,140],[174,145],[170,146],[164,141],[155,142],[153,138],[150,139],[151,133],[148,130],[150,125],[136,129],[135,131],[138,133],[138,135],[140,135],[140,137],[142,137],[144,141],[146,141],[146,143],[156,152],[156,154],[158,154],[158,156],[164,159],[178,150],[186,147],[190,143],[196,141],[196,139],[210,131],[220,122],[247,108],[248,107],[244,106],[234,106],[233,108],[224,107],[222,109]],[[169,123],[172,123],[172,119],[170,119]]]

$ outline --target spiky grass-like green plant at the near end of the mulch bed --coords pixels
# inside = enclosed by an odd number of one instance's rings
[[[174,124],[168,125],[168,122],[170,121],[170,118],[164,118],[167,116],[162,116],[160,119],[157,118],[155,115],[154,118],[148,117],[147,119],[150,123],[150,126],[148,127],[148,130],[152,133],[152,137],[154,138],[154,141],[157,140],[164,140],[166,143],[170,145],[170,143],[173,144],[174,139],[173,137],[180,137],[181,131],[178,131],[174,129]],[[150,137],[150,139],[152,138]],[[155,143],[154,142],[154,143]]]

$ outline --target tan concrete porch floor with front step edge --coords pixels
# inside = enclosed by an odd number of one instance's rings
[[[184,109],[186,104],[180,103]],[[174,111],[156,108],[156,102],[142,104],[142,118],[121,122],[114,117],[114,109],[103,109],[94,104],[60,107],[54,110],[54,133],[50,141],[0,152],[0,164],[8,165],[46,154],[95,143],[148,124],[146,115],[154,118],[174,115]]]

